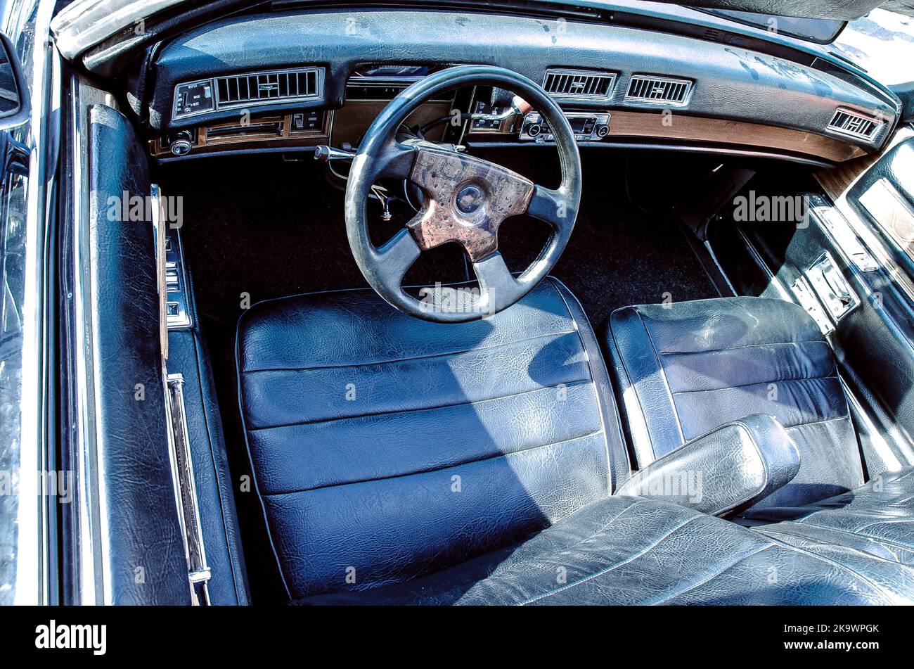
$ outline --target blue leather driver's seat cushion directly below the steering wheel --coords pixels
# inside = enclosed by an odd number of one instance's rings
[[[597,340],[558,281],[467,324],[420,321],[370,290],[260,303],[239,320],[237,357],[292,598],[504,547],[628,473]]]

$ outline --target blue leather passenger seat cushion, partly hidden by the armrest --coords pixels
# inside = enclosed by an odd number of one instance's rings
[[[863,483],[831,347],[802,307],[733,297],[611,314],[611,374],[637,465],[750,414],[781,421],[800,472],[758,506],[795,506]]]

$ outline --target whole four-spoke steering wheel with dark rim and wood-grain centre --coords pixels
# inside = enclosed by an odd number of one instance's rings
[[[397,136],[402,122],[443,90],[484,85],[511,90],[530,102],[548,122],[561,166],[557,190],[537,186],[501,165],[419,138]],[[425,204],[405,228],[381,247],[368,237],[367,199],[377,179],[409,179]],[[359,144],[345,190],[345,226],[359,270],[386,302],[427,321],[463,323],[507,309],[530,292],[556,264],[568,244],[580,202],[578,145],[565,115],[545,90],[509,69],[466,65],[430,74],[403,90],[377,116]],[[498,252],[498,227],[510,216],[528,214],[546,221],[546,247],[519,276]],[[473,263],[479,290],[420,292],[401,286],[423,250],[455,241]],[[454,296],[457,296],[456,299]]]

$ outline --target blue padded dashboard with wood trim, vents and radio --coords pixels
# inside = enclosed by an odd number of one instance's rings
[[[834,164],[879,150],[894,95],[822,58],[531,16],[374,10],[237,16],[166,42],[143,90],[150,153],[356,147],[384,106],[430,72],[513,69],[566,111],[581,146],[741,153]],[[510,91],[453,90],[408,121],[433,141],[551,142]]]

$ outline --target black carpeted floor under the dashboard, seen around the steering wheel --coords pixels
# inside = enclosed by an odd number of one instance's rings
[[[518,163],[510,152],[489,157],[554,186],[548,152],[533,155],[539,162],[523,156]],[[278,156],[161,168],[157,178],[165,195],[184,196],[181,232],[204,320],[233,326],[242,293],[255,303],[367,285],[346,240],[343,193],[326,184],[322,169]],[[552,273],[578,295],[594,326],[625,304],[661,302],[667,294],[675,302],[717,296],[675,221],[627,200],[619,163],[585,162],[584,175],[578,223]],[[388,239],[409,218],[409,207],[396,204],[393,221],[383,223],[380,206],[370,203],[377,219],[373,238]],[[505,221],[499,240],[512,270],[523,270],[536,256],[545,232],[536,220]],[[462,250],[448,245],[423,254],[405,283],[463,281],[465,272]]]

